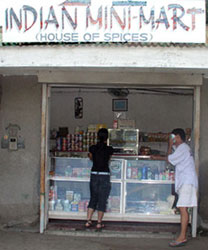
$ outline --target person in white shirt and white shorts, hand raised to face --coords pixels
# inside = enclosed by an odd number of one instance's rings
[[[152,159],[155,160],[166,159],[175,166],[175,191],[179,196],[176,206],[180,210],[181,232],[176,240],[170,242],[171,247],[183,246],[187,242],[188,207],[197,206],[198,178],[190,147],[185,140],[184,130],[174,129],[169,139],[168,155],[166,157],[152,156]],[[175,151],[172,153],[173,147],[175,147]]]

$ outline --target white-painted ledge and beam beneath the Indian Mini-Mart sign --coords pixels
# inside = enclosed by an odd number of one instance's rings
[[[5,46],[0,47],[0,74],[37,75],[45,83],[200,85],[202,75],[208,74],[208,48]]]

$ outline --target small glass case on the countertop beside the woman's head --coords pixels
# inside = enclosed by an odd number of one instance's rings
[[[115,154],[138,155],[138,129],[108,129],[108,132],[108,145],[114,148]]]

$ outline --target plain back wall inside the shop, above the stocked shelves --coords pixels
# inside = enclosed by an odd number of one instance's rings
[[[74,118],[74,98],[77,96],[83,98],[83,119]],[[113,98],[106,90],[52,92],[51,128],[66,126],[70,133],[76,126],[85,130],[88,124],[105,123],[110,128],[114,119]],[[192,96],[131,94],[130,91],[127,98],[126,117],[134,119],[140,131],[169,132],[176,127],[192,127]]]

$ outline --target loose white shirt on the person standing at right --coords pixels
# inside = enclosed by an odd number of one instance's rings
[[[183,184],[198,188],[194,159],[191,149],[186,143],[180,144],[174,153],[168,156],[168,161],[175,166],[175,191],[178,192]]]

